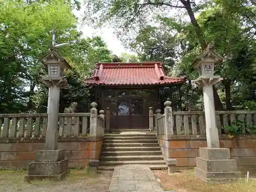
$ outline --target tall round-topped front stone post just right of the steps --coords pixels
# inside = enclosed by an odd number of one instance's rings
[[[174,134],[173,111],[170,106],[171,104],[172,102],[170,102],[169,98],[167,98],[167,101],[164,102],[164,129],[166,136]]]

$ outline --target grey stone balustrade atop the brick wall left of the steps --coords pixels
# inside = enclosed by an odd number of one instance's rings
[[[96,109],[97,110],[97,109]],[[95,114],[97,121],[91,122],[91,113],[59,113],[59,137],[103,137],[104,111]],[[1,138],[45,137],[48,114],[0,114]],[[91,130],[95,131],[92,132]],[[92,134],[93,133],[93,134]]]

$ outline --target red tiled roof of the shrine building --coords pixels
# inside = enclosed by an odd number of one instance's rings
[[[161,62],[96,63],[93,76],[86,78],[90,85],[153,85],[184,82],[184,77],[167,77]]]

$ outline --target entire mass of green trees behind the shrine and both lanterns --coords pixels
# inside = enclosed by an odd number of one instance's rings
[[[186,76],[182,101],[200,110],[202,90],[192,85],[198,73],[191,63],[201,53],[203,41],[215,42],[216,51],[224,57],[216,67],[216,75],[224,77],[215,86],[218,104],[227,110],[256,109],[253,1],[207,0],[197,5],[190,1],[184,7],[186,2],[88,0],[84,20],[93,26],[117,29],[123,44],[138,55],[123,53],[123,62],[158,60],[168,75]],[[174,8],[181,9],[169,14]],[[69,89],[60,93],[60,112],[73,101],[81,108],[87,102],[90,93],[82,85],[84,77],[92,74],[95,62],[111,62],[113,56],[100,37],[82,38],[72,9],[80,9],[79,1],[0,2],[0,113],[46,112],[48,89],[39,83],[45,71],[38,58],[49,49],[53,28],[57,44],[76,40],[73,45],[58,48],[73,67],[66,73]],[[187,13],[189,22],[183,19]],[[233,132],[239,129],[235,127]]]

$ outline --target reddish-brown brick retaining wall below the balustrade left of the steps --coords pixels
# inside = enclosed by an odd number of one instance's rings
[[[66,150],[69,167],[88,167],[89,160],[99,158],[104,137],[63,137],[59,149]],[[44,138],[0,138],[0,168],[28,168],[35,151],[44,150]]]

